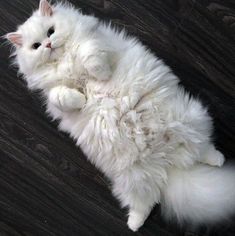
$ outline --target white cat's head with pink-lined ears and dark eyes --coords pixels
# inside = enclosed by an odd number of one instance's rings
[[[63,56],[76,22],[74,17],[72,7],[41,0],[39,9],[16,32],[6,35],[15,46],[16,64],[21,73],[29,75]]]

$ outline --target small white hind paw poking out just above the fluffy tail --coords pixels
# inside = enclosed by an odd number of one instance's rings
[[[215,149],[213,144],[208,144],[203,147],[201,152],[201,162],[211,166],[222,166],[224,164],[224,155]]]

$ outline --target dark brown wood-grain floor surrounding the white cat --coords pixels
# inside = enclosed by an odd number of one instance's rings
[[[235,158],[234,0],[73,0],[85,13],[112,20],[171,66],[214,118],[215,142]],[[38,0],[0,0],[0,35],[13,31]],[[1,41],[3,43],[3,41]],[[9,67],[0,46],[0,236],[134,235],[109,183],[44,114]],[[235,235],[235,223],[179,228],[156,207],[135,235]]]

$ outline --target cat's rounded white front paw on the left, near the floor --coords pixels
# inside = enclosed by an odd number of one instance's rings
[[[61,111],[81,109],[85,102],[85,95],[76,89],[66,86],[57,86],[51,89],[48,96],[49,102]]]

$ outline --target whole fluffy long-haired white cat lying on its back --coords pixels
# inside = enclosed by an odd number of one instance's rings
[[[179,223],[235,209],[235,174],[211,143],[212,122],[162,60],[124,31],[69,4],[40,1],[7,39],[59,129],[112,182],[137,231],[156,203]]]

